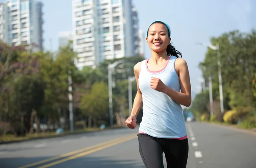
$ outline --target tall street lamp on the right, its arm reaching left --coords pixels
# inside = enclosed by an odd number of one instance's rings
[[[223,105],[223,91],[222,91],[222,78],[221,78],[221,55],[220,55],[220,48],[219,44],[217,43],[216,46],[213,46],[212,44],[205,44],[205,43],[196,43],[201,46],[208,46],[210,49],[217,51],[217,57],[218,57],[218,79],[219,79],[219,90],[220,90],[220,104],[221,104],[221,113],[224,112],[224,105]]]

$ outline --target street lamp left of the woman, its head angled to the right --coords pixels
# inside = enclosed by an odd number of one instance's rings
[[[112,98],[112,70],[118,64],[123,63],[124,60],[119,60],[113,64],[108,64],[108,102],[109,102],[109,119],[110,127],[113,127],[113,98]]]

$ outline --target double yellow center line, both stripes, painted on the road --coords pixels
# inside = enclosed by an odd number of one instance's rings
[[[137,134],[136,134],[136,136],[137,136]],[[79,149],[77,151],[72,151],[72,152],[69,152],[67,154],[62,154],[62,155],[55,156],[55,157],[52,157],[52,158],[49,158],[49,159],[41,160],[39,162],[34,162],[34,163],[29,164],[29,165],[24,165],[24,166],[21,166],[21,167],[18,167],[18,168],[29,168],[29,167],[32,167],[32,166],[35,166],[35,165],[40,165],[40,164],[50,162],[50,161],[53,161],[53,160],[56,160],[56,159],[61,159],[61,158],[67,157],[67,156],[72,156],[74,154],[79,154],[79,153],[84,152],[84,151],[89,151],[89,150],[92,150],[94,148],[99,148],[99,147],[104,146],[104,145],[113,144],[115,142],[120,142],[120,140],[122,140],[122,139],[124,139],[126,141],[126,139],[129,140],[131,137],[135,138],[134,134],[132,134],[132,136],[131,135],[122,136],[122,137],[119,137],[119,138],[116,138],[116,139],[112,139],[110,141],[102,142],[102,143],[99,143],[99,144],[96,144],[96,145],[93,145],[93,146],[89,146],[89,147],[86,147],[86,148]]]

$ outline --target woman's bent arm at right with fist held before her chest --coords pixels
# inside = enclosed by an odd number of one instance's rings
[[[175,61],[175,70],[179,76],[180,92],[163,84],[159,78],[151,78],[151,88],[159,92],[163,92],[174,101],[189,107],[191,104],[191,84],[189,78],[189,70],[185,60],[177,58]]]

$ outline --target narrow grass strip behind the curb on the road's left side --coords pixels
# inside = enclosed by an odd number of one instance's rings
[[[108,127],[105,129],[109,129]],[[84,132],[93,132],[99,131],[98,127],[92,128],[85,128],[85,129],[76,129],[74,133],[84,133]],[[36,139],[36,138],[48,138],[48,137],[58,137],[63,135],[71,134],[70,130],[65,130],[63,134],[55,134],[55,131],[42,133],[33,133],[33,134],[26,134],[26,136],[16,137],[15,135],[4,135],[0,136],[0,142],[10,142],[10,141],[23,141],[28,139]]]

